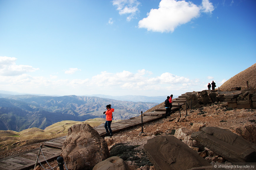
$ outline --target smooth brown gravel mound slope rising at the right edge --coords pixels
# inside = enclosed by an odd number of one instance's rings
[[[236,74],[228,79],[219,88],[221,91],[230,91],[232,88],[241,87],[241,89],[247,89],[246,81],[249,82],[249,88],[256,88],[256,63],[244,71]]]

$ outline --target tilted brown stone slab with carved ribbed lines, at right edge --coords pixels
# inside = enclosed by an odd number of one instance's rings
[[[204,127],[191,137],[230,162],[256,162],[256,144],[228,129]]]

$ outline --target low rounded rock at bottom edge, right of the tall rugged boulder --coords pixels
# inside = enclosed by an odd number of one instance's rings
[[[92,170],[129,170],[129,167],[123,159],[110,157],[96,164]]]

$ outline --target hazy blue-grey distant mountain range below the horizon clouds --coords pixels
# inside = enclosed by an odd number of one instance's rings
[[[104,96],[107,97],[107,96]],[[122,96],[116,96],[122,98]],[[146,96],[145,96],[146,97]],[[131,100],[132,96],[124,96]],[[143,98],[143,96],[141,96]],[[115,108],[113,117],[129,119],[159,103],[121,101],[96,96],[37,96],[0,94],[0,130],[44,129],[62,120],[84,121],[105,118],[106,105]]]

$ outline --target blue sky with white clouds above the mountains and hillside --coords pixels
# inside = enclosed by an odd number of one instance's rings
[[[254,0],[0,0],[0,90],[164,96],[218,87],[256,62],[255,8]]]

